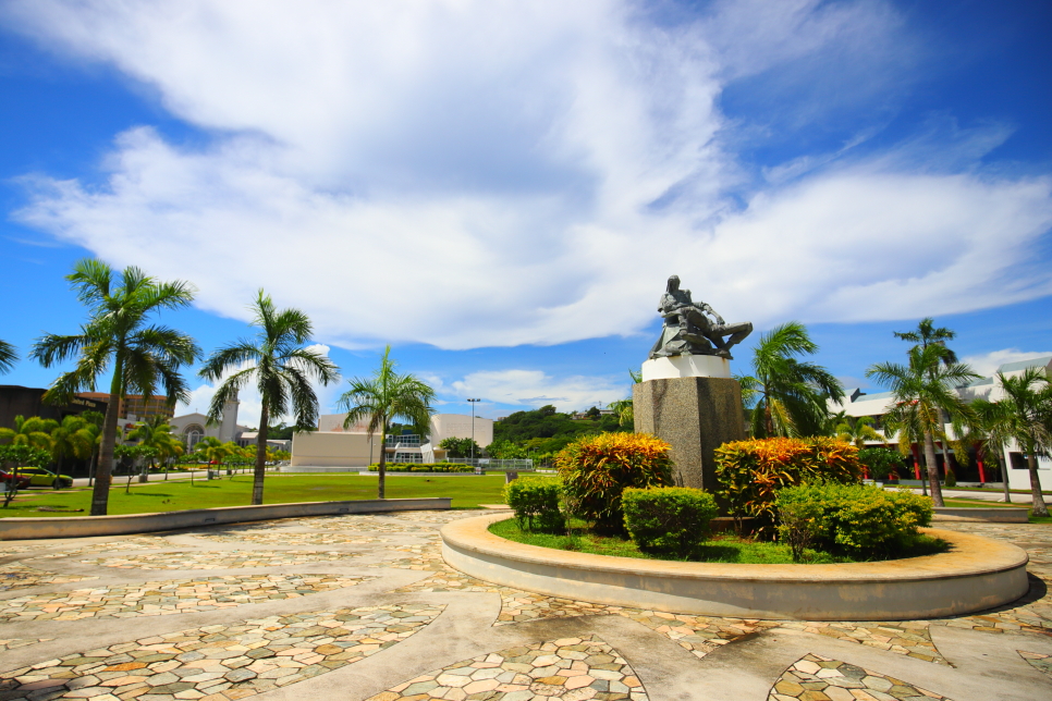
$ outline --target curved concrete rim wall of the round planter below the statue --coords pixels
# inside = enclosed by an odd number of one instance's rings
[[[524,545],[489,532],[494,514],[442,528],[442,555],[461,571],[551,597],[650,611],[744,618],[904,620],[1015,601],[1029,588],[1025,551],[926,529],[949,553],[842,565],[731,565],[636,559]]]

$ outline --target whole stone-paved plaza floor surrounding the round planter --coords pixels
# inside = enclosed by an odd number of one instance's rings
[[[448,567],[480,512],[286,519],[0,543],[0,701],[1052,699],[1052,527],[1030,593],[934,620],[677,615],[553,599]]]

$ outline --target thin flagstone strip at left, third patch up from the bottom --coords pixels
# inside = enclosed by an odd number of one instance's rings
[[[99,565],[119,569],[233,569],[237,567],[274,567],[307,563],[343,562],[357,553],[313,550],[229,550],[223,552],[181,552],[99,557],[82,559],[82,565]]]

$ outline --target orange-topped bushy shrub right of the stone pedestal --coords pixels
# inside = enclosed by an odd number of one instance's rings
[[[726,501],[741,532],[742,519],[756,519],[756,532],[775,533],[774,497],[804,482],[857,482],[858,448],[831,438],[772,438],[724,443],[715,450],[715,495]]]

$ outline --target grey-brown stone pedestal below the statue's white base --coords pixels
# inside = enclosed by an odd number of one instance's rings
[[[676,484],[715,489],[713,451],[745,440],[742,388],[730,378],[674,378],[640,382],[632,391],[637,433],[672,445]]]

